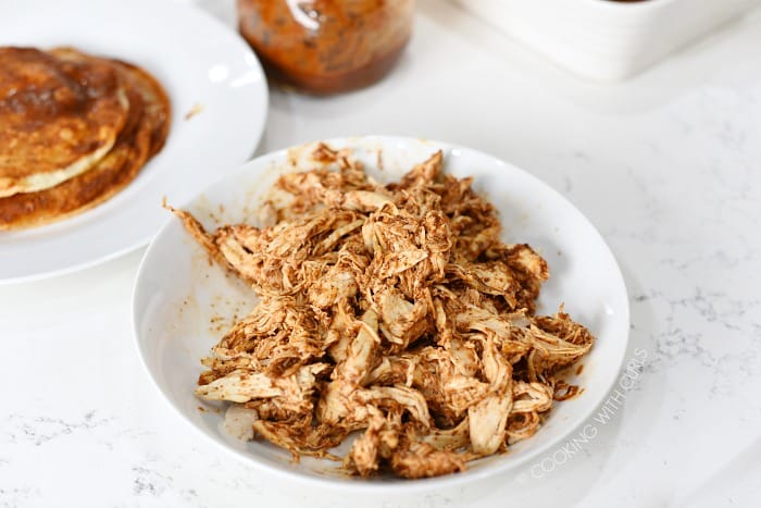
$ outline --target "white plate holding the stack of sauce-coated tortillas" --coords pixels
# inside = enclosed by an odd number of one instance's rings
[[[0,283],[80,269],[146,245],[183,202],[249,159],[267,111],[264,74],[246,42],[169,1],[0,0],[0,46],[73,46],[134,62],[172,100],[166,146],[103,205],[60,223],[0,232]],[[185,115],[198,104],[201,111]]]

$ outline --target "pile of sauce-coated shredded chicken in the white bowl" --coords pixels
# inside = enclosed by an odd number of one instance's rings
[[[495,208],[442,172],[441,153],[380,185],[348,150],[320,145],[314,169],[263,224],[207,233],[174,210],[259,302],[202,360],[196,394],[234,402],[226,424],[299,456],[359,435],[362,476],[463,471],[532,436],[576,393],[561,371],[592,335],[561,310],[535,315],[549,277],[528,245],[500,240]]]

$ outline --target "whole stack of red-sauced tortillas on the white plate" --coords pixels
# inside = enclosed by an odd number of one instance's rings
[[[129,63],[71,48],[0,48],[0,230],[88,210],[164,145],[170,101]]]

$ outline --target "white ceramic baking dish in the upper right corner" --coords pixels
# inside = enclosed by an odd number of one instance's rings
[[[622,79],[761,0],[456,0],[570,71]]]

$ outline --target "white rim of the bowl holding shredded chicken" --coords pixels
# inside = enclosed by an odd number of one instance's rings
[[[626,281],[623,276],[623,273],[621,272],[621,268],[615,259],[615,256],[613,255],[612,250],[610,249],[610,246],[608,243],[604,240],[600,232],[597,230],[597,227],[589,221],[586,215],[582,213],[581,210],[578,210],[569,199],[566,199],[562,194],[560,194],[557,189],[551,187],[549,184],[546,184],[544,181],[535,176],[534,174],[529,173],[528,171],[525,171],[510,162],[504,161],[503,159],[489,154],[487,152],[476,150],[473,148],[464,147],[461,145],[456,145],[451,143],[446,143],[446,141],[438,141],[435,139],[428,139],[428,138],[416,138],[416,137],[409,137],[409,136],[388,136],[388,135],[367,135],[367,136],[341,136],[341,137],[332,137],[327,139],[317,139],[317,140],[312,140],[312,141],[307,141],[298,145],[294,145],[291,147],[287,148],[282,148],[278,150],[274,150],[271,152],[263,153],[259,157],[255,157],[244,164],[238,165],[237,169],[234,169],[225,174],[222,178],[217,179],[215,183],[211,184],[210,186],[207,187],[207,189],[210,189],[212,187],[215,187],[216,185],[221,184],[223,181],[228,179],[228,178],[235,178],[238,175],[240,175],[246,169],[250,166],[258,166],[263,163],[267,163],[274,160],[283,160],[287,161],[287,156],[289,152],[292,150],[301,150],[304,147],[312,146],[315,143],[325,143],[327,145],[330,144],[341,144],[341,145],[350,145],[351,143],[357,143],[357,141],[366,141],[366,143],[383,143],[383,144],[410,144],[410,143],[415,143],[415,144],[425,144],[425,145],[431,145],[435,147],[440,147],[442,150],[460,150],[460,153],[466,153],[470,152],[472,154],[478,156],[478,157],[485,157],[487,159],[492,160],[496,163],[503,164],[506,166],[511,168],[514,171],[523,173],[524,176],[528,177],[534,184],[540,185],[542,187],[546,187],[548,191],[551,194],[556,195],[556,198],[562,200],[563,202],[567,203],[570,207],[573,208],[573,210],[588,224],[588,226],[591,228],[591,232],[598,237],[598,239],[601,243],[601,246],[604,247],[603,252],[607,257],[610,258],[610,261],[612,262],[612,268],[615,269],[617,280],[621,283],[621,289],[624,292],[624,298],[622,299],[623,302],[623,308],[620,309],[622,312],[622,320],[623,323],[625,324],[625,332],[622,337],[616,337],[620,338],[623,344],[620,346],[620,358],[614,359],[616,364],[614,365],[614,372],[616,373],[616,376],[612,377],[610,386],[607,388],[600,391],[599,395],[596,397],[596,399],[592,401],[590,406],[590,411],[589,412],[583,412],[579,413],[577,417],[572,418],[570,421],[570,424],[567,428],[556,438],[549,439],[546,443],[537,445],[535,448],[532,449],[529,454],[526,454],[524,457],[520,457],[516,460],[504,460],[495,464],[490,464],[489,467],[486,468],[478,468],[475,470],[466,470],[462,473],[454,473],[454,474],[445,474],[441,476],[434,476],[434,478],[423,478],[423,479],[415,479],[415,480],[404,480],[404,479],[389,479],[388,481],[373,481],[372,479],[367,481],[362,481],[362,480],[351,480],[348,476],[346,479],[344,478],[334,478],[334,476],[319,476],[319,475],[311,475],[311,474],[304,474],[299,471],[295,470],[288,470],[286,468],[278,468],[271,466],[266,462],[260,461],[257,458],[252,457],[250,454],[245,453],[239,449],[235,449],[230,446],[223,445],[222,443],[217,442],[214,439],[211,435],[209,435],[207,432],[195,425],[192,422],[188,420],[188,418],[183,413],[182,409],[172,400],[169,394],[166,394],[161,386],[159,385],[159,382],[157,377],[153,375],[151,372],[150,367],[148,365],[147,359],[146,359],[146,351],[144,349],[142,340],[140,338],[140,332],[139,332],[139,317],[137,315],[137,297],[138,293],[140,290],[140,282],[142,277],[145,276],[145,267],[146,263],[148,262],[149,258],[151,257],[151,253],[153,250],[157,248],[155,243],[157,240],[165,234],[167,230],[171,227],[179,227],[178,223],[174,221],[174,218],[169,218],[166,222],[161,226],[161,228],[157,232],[157,234],[153,236],[151,239],[150,244],[148,245],[148,248],[142,255],[142,258],[140,259],[140,263],[137,269],[137,274],[135,276],[134,285],[133,285],[133,290],[132,290],[132,311],[130,311],[130,317],[132,317],[132,330],[133,330],[133,338],[134,338],[134,345],[137,348],[138,357],[140,358],[140,364],[142,365],[142,370],[150,379],[150,384],[153,386],[153,388],[161,394],[161,398],[169,404],[170,407],[172,407],[173,412],[175,413],[176,417],[178,417],[179,420],[182,420],[186,425],[190,426],[194,432],[197,434],[200,434],[203,436],[203,439],[207,443],[212,444],[215,448],[217,449],[224,449],[226,454],[233,456],[236,458],[236,460],[241,461],[241,463],[245,463],[249,467],[253,467],[257,470],[264,472],[266,474],[272,474],[276,476],[279,480],[283,481],[297,481],[300,482],[303,485],[309,485],[313,487],[319,487],[319,488],[332,488],[332,490],[342,490],[344,492],[349,492],[349,493],[358,493],[358,494],[380,494],[385,493],[388,494],[390,492],[396,493],[401,493],[401,494],[411,494],[411,493],[424,493],[424,492],[431,492],[436,488],[441,488],[441,487],[461,487],[466,484],[472,484],[472,483],[477,483],[477,482],[483,482],[487,479],[495,478],[499,474],[506,474],[509,471],[513,471],[516,468],[521,466],[525,466],[526,463],[531,462],[532,460],[536,460],[537,458],[542,457],[542,454],[546,454],[548,450],[553,449],[558,447],[558,445],[562,444],[564,439],[567,439],[569,436],[573,434],[574,431],[579,429],[587,420],[594,417],[595,410],[597,410],[607,399],[609,396],[611,389],[614,387],[614,383],[617,380],[624,361],[626,359],[626,351],[628,349],[628,342],[629,342],[629,324],[631,324],[631,310],[629,310],[629,301],[628,301],[628,290],[626,288]],[[196,201],[199,196],[203,195],[204,191],[207,190],[201,190],[198,193],[196,196],[190,198],[189,201],[183,203],[180,206],[185,207],[194,201]],[[510,454],[509,451],[507,454],[502,454],[504,457],[508,457]]]

